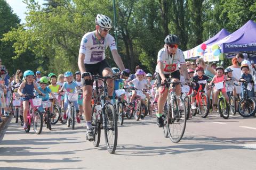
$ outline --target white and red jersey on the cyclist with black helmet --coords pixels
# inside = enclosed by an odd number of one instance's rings
[[[186,64],[185,57],[181,49],[178,48],[174,54],[174,58],[172,58],[172,56],[167,53],[166,47],[159,50],[157,62],[163,63],[164,74],[171,74],[172,72],[179,70],[178,64]],[[158,66],[156,66],[156,72],[159,73]]]

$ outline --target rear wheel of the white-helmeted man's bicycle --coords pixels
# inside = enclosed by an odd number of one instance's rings
[[[94,147],[99,147],[100,145],[100,134],[101,134],[101,128],[100,128],[100,122],[97,119],[97,114],[96,112],[94,113],[94,108],[95,108],[95,104],[92,106],[92,129],[93,129],[93,146]],[[102,120],[102,116],[101,120]]]

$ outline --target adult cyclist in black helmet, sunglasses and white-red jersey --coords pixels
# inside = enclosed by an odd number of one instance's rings
[[[178,65],[181,66],[183,76],[188,82],[188,71],[186,67],[185,58],[182,50],[178,48],[179,38],[175,35],[168,35],[164,39],[164,48],[159,50],[157,55],[157,66],[156,66],[156,79],[157,87],[159,91],[158,98],[158,113],[157,113],[157,126],[163,127],[164,121],[162,118],[163,108],[167,99],[167,89],[163,91],[163,84],[166,78],[171,75],[172,82],[180,82],[180,71]],[[163,92],[162,92],[163,91]],[[162,93],[161,93],[162,92]],[[176,86],[176,94],[180,96],[181,88],[180,85]]]

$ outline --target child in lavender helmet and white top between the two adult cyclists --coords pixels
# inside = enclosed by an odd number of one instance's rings
[[[144,78],[144,74],[145,72],[142,69],[137,70],[136,72],[136,78],[133,79],[132,81],[128,82],[129,86],[132,86],[132,84],[134,85],[134,87],[138,90],[143,90],[143,89],[147,89],[148,90],[148,83]],[[149,94],[146,93],[145,94],[146,97],[149,99]],[[137,92],[135,90],[132,90],[132,97],[131,97],[131,101],[134,100],[135,96],[137,96]],[[131,106],[132,103],[130,102],[129,105]]]

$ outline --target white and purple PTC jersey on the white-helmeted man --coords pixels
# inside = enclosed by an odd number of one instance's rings
[[[109,33],[101,40],[95,37],[95,31],[87,32],[81,41],[79,53],[85,54],[84,64],[96,64],[105,59],[105,50],[117,49],[116,41]]]

